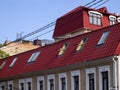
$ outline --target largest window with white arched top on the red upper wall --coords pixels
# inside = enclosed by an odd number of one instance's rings
[[[102,24],[101,17],[103,16],[101,13],[96,11],[89,11],[88,14],[90,24],[101,26]]]

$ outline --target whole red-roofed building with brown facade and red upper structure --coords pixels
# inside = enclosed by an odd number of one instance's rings
[[[0,90],[120,90],[119,18],[105,7],[58,18],[55,43],[0,61]]]

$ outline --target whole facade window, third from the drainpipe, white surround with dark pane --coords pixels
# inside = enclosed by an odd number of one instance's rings
[[[80,70],[71,71],[71,89],[80,90]]]

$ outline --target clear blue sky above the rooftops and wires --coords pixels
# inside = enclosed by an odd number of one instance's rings
[[[90,1],[92,0],[0,0],[0,43],[6,39],[15,40],[17,33],[22,33],[24,36],[35,31]],[[109,12],[120,13],[119,3],[120,0],[110,0],[102,6],[106,6]],[[42,32],[35,36],[41,34]],[[52,32],[39,39],[51,39],[51,37]]]

